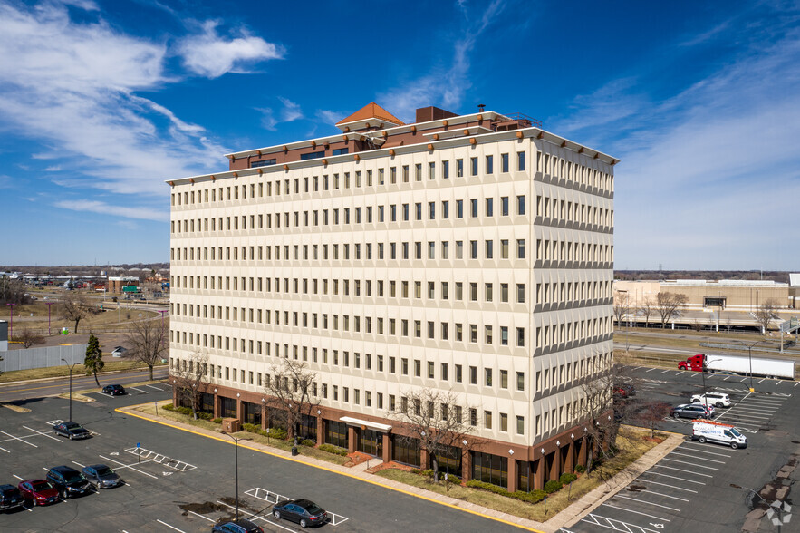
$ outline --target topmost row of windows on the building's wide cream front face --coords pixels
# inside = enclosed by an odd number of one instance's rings
[[[313,156],[314,154],[305,155]],[[316,157],[323,156],[318,155],[304,159],[316,159]],[[510,154],[500,154],[499,170],[501,173],[508,173],[510,171],[510,158]],[[270,161],[272,161],[272,163],[270,163]],[[450,164],[451,162],[453,162],[452,166]],[[479,175],[492,175],[495,173],[494,155],[484,156],[482,169],[480,158],[469,158],[466,163],[470,177],[477,177]],[[253,166],[261,167],[268,166],[269,164],[275,164],[275,160],[258,161],[254,163]],[[482,173],[481,170],[483,170]],[[523,151],[516,152],[516,170],[520,172],[525,171],[525,152]],[[463,178],[465,176],[465,160],[441,160],[439,161],[439,164],[437,164],[436,161],[428,161],[427,163],[389,167],[388,170],[386,168],[369,169],[364,172],[361,170],[356,170],[352,173],[352,179],[350,172],[343,172],[341,175],[339,173],[333,173],[324,174],[322,177],[304,176],[303,178],[275,179],[275,181],[265,181],[261,183],[250,183],[245,185],[210,187],[197,191],[184,191],[182,194],[180,192],[173,193],[171,197],[171,203],[173,206],[195,205],[217,201],[264,198],[265,195],[266,197],[277,197],[281,196],[282,194],[300,194],[301,190],[304,193],[309,193],[319,192],[321,189],[361,189],[362,187],[384,186],[387,184],[395,185],[399,180],[402,183],[410,183],[412,175],[414,181],[417,182],[431,181],[438,178],[450,179],[451,173],[453,177]]]

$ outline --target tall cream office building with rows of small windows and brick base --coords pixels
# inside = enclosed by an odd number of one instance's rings
[[[391,412],[453,391],[480,444],[448,468],[541,487],[585,460],[582,383],[612,364],[618,161],[523,115],[416,119],[371,103],[170,180],[170,364],[207,354],[205,408],[265,425],[272,367],[305,362],[304,432],[417,464]]]

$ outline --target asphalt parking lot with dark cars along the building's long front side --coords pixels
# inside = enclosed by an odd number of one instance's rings
[[[236,509],[235,448],[221,436],[209,439],[115,409],[170,397],[163,383],[137,386],[130,394],[88,395],[96,402],[72,402],[72,420],[92,431],[92,438],[55,437],[54,422],[68,420],[63,398],[28,399],[31,412],[0,408],[0,483],[43,478],[54,466],[76,470],[102,463],[120,474],[125,485],[103,489],[46,507],[0,513],[2,531],[210,531],[215,522],[233,518]],[[371,485],[333,471],[238,447],[240,515],[265,531],[300,531],[275,519],[277,499],[308,498],[331,515],[322,530],[511,531],[515,527],[441,506],[427,499]]]

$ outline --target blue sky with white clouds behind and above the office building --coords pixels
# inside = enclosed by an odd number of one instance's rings
[[[616,267],[800,269],[800,5],[0,0],[0,265],[167,261],[164,180],[375,101],[616,166]]]

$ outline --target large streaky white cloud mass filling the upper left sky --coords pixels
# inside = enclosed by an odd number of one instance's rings
[[[50,170],[70,170],[53,182],[160,195],[163,179],[217,167],[225,147],[137,92],[185,78],[166,71],[176,53],[189,75],[216,77],[280,57],[278,47],[244,29],[219,36],[211,22],[193,24],[198,33],[178,38],[173,48],[122,33],[101,16],[72,19],[65,4],[97,9],[89,1],[25,6],[0,0],[0,119],[6,130],[43,145],[34,160],[57,158]]]

